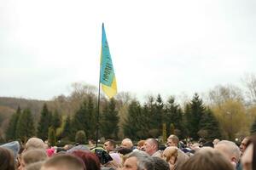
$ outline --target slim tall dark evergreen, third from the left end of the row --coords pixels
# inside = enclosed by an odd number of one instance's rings
[[[48,138],[48,129],[51,126],[51,113],[47,108],[47,105],[44,104],[43,110],[41,111],[40,121],[38,122],[38,138],[47,139]]]

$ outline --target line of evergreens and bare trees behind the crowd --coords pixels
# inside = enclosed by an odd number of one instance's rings
[[[193,139],[243,138],[256,131],[256,78],[247,79],[246,85],[245,91],[219,85],[180,104],[173,96],[164,101],[160,94],[143,103],[129,93],[110,100],[101,96],[99,137],[165,140],[174,133]],[[48,101],[38,115],[29,107],[19,107],[5,130],[5,140],[25,141],[34,135],[53,144],[60,139],[96,139],[96,97],[95,87],[76,83],[69,96]]]

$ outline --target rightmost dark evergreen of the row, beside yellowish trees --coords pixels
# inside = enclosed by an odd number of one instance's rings
[[[201,116],[200,131],[207,133],[206,139],[208,140],[219,139],[221,137],[218,121],[209,108]]]

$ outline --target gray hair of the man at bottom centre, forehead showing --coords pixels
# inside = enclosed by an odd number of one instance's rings
[[[154,160],[143,151],[133,151],[127,158],[137,158],[137,170],[154,170]]]

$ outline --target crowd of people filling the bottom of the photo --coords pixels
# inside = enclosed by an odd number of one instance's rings
[[[229,140],[180,141],[170,135],[165,145],[157,139],[133,144],[107,139],[95,144],[50,146],[31,138],[24,146],[13,141],[0,145],[0,170],[253,170],[256,169],[256,136],[240,145]]]

